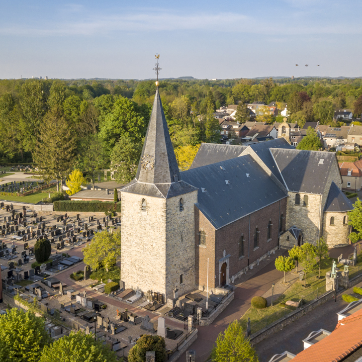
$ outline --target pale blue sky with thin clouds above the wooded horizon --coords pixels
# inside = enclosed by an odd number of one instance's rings
[[[361,10],[357,0],[0,0],[0,78],[151,78],[156,52],[160,77],[362,76]]]

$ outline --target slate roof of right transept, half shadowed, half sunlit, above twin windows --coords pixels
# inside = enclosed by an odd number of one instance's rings
[[[270,151],[290,191],[317,195],[324,193],[328,174],[333,162],[336,162],[334,152],[278,148]]]

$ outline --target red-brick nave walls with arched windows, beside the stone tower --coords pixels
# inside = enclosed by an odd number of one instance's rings
[[[196,256],[196,285],[201,289],[206,288],[207,283],[207,258],[209,257],[209,288],[219,286],[219,260],[230,254],[229,259],[229,279],[240,270],[264,256],[268,251],[278,247],[279,219],[280,213],[286,214],[287,199],[278,201],[272,205],[256,211],[242,219],[215,230],[205,216],[196,209],[195,215],[195,256]],[[250,238],[249,238],[249,218],[250,218]],[[267,241],[267,226],[271,219],[272,238]],[[259,230],[259,246],[254,250],[254,231]],[[206,232],[206,246],[200,246],[199,232]],[[244,256],[239,257],[239,241],[243,234]]]

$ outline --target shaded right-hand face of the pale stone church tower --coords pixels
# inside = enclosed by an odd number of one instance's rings
[[[184,210],[179,210],[182,198]],[[166,200],[166,298],[195,288],[195,204],[197,191]],[[180,275],[183,283],[180,284]]]

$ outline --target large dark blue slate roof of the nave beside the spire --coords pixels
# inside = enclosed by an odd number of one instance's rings
[[[189,169],[181,177],[199,189],[196,206],[215,229],[287,197],[250,155]]]

